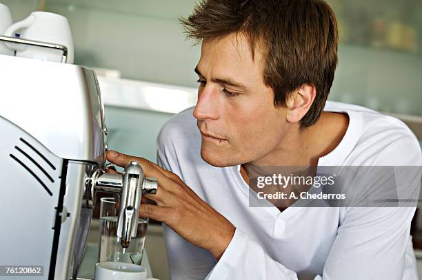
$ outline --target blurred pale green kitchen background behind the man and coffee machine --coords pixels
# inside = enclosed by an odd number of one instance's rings
[[[199,46],[185,41],[178,17],[194,0],[0,0],[13,21],[34,10],[67,17],[75,64],[94,67],[106,104],[110,149],[155,161],[155,140],[173,114],[195,104]],[[400,118],[422,144],[422,1],[329,0],[339,21],[339,65],[330,100]],[[95,223],[90,241],[98,239]],[[414,219],[422,263],[422,219]],[[161,227],[150,225],[154,277],[168,279]],[[422,271],[422,265],[421,265]]]

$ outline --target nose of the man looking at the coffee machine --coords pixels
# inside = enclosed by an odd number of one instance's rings
[[[210,86],[205,86],[198,91],[197,106],[194,109],[193,115],[197,120],[205,118],[217,119],[219,118],[219,96],[216,89]]]

